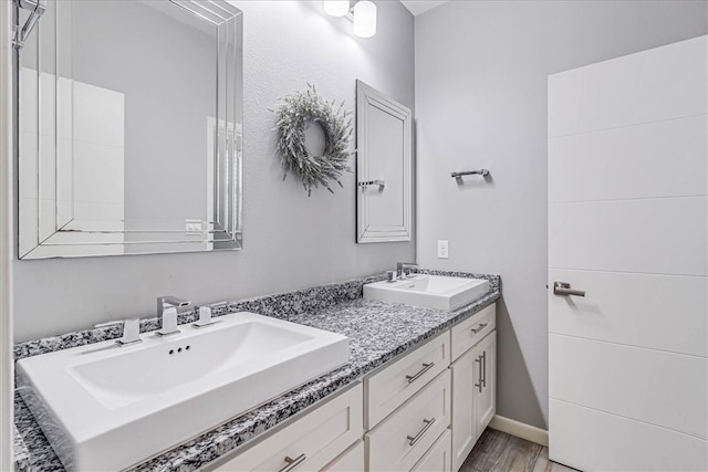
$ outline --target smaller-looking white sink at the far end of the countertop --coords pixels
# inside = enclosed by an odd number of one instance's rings
[[[397,282],[375,282],[364,285],[364,298],[403,303],[426,308],[455,311],[481,298],[489,292],[483,279],[414,275]]]

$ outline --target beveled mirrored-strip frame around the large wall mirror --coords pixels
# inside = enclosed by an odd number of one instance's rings
[[[18,214],[19,231],[18,237],[18,258],[19,259],[48,259],[48,258],[79,258],[79,256],[98,256],[98,255],[134,255],[134,254],[153,254],[153,253],[175,253],[175,252],[204,252],[214,250],[238,250],[242,248],[242,115],[243,115],[243,67],[242,67],[242,35],[243,35],[243,13],[227,2],[226,0],[162,0],[169,1],[176,7],[183,8],[198,17],[200,20],[211,23],[216,28],[216,106],[214,139],[214,204],[208,203],[209,212],[205,214],[207,221],[201,222],[199,230],[195,231],[194,227],[189,230],[190,220],[184,221],[145,221],[139,222],[140,225],[131,230],[112,229],[110,227],[80,227],[75,228],[69,224],[73,220],[73,191],[64,191],[71,193],[71,199],[60,201],[60,180],[58,170],[58,157],[62,149],[58,146],[59,139],[59,94],[56,93],[58,80],[53,80],[53,91],[43,97],[40,94],[39,86],[37,90],[22,91],[23,95],[32,94],[31,99],[37,104],[38,130],[37,130],[37,149],[31,153],[21,153],[20,147],[20,117],[22,109],[20,108],[20,99],[15,101],[15,164],[19,180],[19,195],[33,195],[37,197],[33,201],[35,208],[28,208],[28,201],[18,197]],[[52,72],[54,77],[60,76],[58,70],[65,69],[65,64],[60,64],[60,51],[62,57],[69,57],[65,62],[71,67],[71,51],[66,51],[71,44],[71,36],[63,33],[64,41],[58,41],[58,22],[59,10],[73,8],[73,0],[49,0],[54,3],[55,8],[54,21],[44,17],[38,23],[38,35],[49,34],[53,36],[52,44],[49,49],[40,48],[40,41],[37,41],[37,83],[39,84],[40,72]],[[64,11],[65,13],[65,11]],[[67,38],[67,39],[66,39]],[[69,52],[69,54],[67,54]],[[14,51],[14,84],[15,96],[20,97],[20,54],[21,50]],[[41,64],[50,64],[50,67],[41,67]],[[49,71],[48,71],[49,69]],[[73,78],[73,77],[69,77]],[[51,113],[41,114],[44,109]],[[48,116],[51,115],[51,116]],[[50,134],[54,136],[53,146],[41,146],[40,137],[42,136],[42,126],[51,128]],[[34,136],[33,136],[34,138]],[[28,154],[30,156],[28,156]],[[70,153],[66,153],[70,154]],[[30,168],[37,169],[37,176],[23,178],[22,159],[35,159]],[[199,157],[201,158],[201,157]],[[63,161],[72,161],[73,157],[69,156]],[[211,157],[208,157],[211,159]],[[73,174],[73,168],[70,170]],[[53,179],[52,190],[44,191],[40,188],[40,182]],[[44,193],[42,193],[44,192]],[[49,196],[46,195],[49,193]],[[48,198],[49,197],[49,198]],[[65,202],[71,203],[70,213],[65,208],[60,208]],[[24,208],[23,208],[24,206]],[[60,213],[61,210],[61,213]],[[60,218],[60,214],[64,216]],[[66,222],[69,218],[69,222]],[[136,225],[136,222],[131,222]],[[30,234],[22,232],[24,228],[29,228]],[[29,227],[28,227],[29,224]],[[187,224],[187,227],[186,227]],[[189,230],[189,231],[188,231]],[[139,240],[124,241],[122,235],[126,233],[139,234]],[[118,237],[121,235],[121,237]],[[23,241],[24,237],[24,241]],[[28,242],[25,242],[28,241]],[[131,252],[117,252],[121,248],[131,247]]]

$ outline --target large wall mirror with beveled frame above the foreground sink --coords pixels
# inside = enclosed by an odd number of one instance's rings
[[[238,9],[49,0],[15,63],[21,259],[241,247]]]

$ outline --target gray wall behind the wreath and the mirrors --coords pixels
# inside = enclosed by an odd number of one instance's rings
[[[414,258],[414,242],[355,243],[354,174],[335,195],[319,190],[311,198],[295,179],[282,181],[269,112],[306,82],[354,111],[356,78],[414,108],[410,13],[379,1],[378,33],[357,39],[347,20],[327,17],[319,1],[233,3],[244,12],[244,249],[15,261],[17,340],[154,316],[158,295],[236,300],[383,272]]]

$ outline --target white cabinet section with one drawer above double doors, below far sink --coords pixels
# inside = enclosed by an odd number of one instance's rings
[[[452,471],[459,470],[496,412],[496,305],[452,327]],[[456,343],[457,340],[457,343]]]

